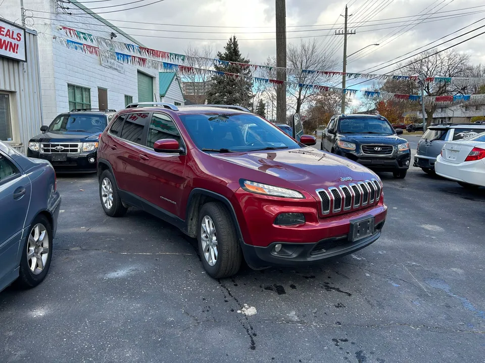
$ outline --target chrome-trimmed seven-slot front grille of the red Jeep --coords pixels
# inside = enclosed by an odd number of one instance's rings
[[[382,194],[382,186],[376,179],[351,183],[348,186],[317,189],[320,197],[321,214],[334,214],[366,208],[377,204]]]

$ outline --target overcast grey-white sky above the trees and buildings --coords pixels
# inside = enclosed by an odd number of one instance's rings
[[[214,50],[217,51],[223,50],[227,38],[230,35],[235,34],[239,39],[241,52],[250,58],[251,63],[261,64],[268,58],[268,56],[274,56],[276,53],[274,40],[275,0],[164,0],[160,3],[139,9],[102,14],[104,11],[131,8],[156,1],[145,0],[141,3],[124,7],[94,9],[96,7],[107,5],[126,4],[131,1],[134,0],[113,0],[109,3],[85,2],[84,5],[93,9],[93,11],[98,12],[108,20],[116,19],[139,22],[140,24],[112,21],[126,33],[133,35],[140,42],[151,48],[183,53],[184,49],[186,49],[189,44],[193,46],[211,44]],[[349,30],[356,30],[357,33],[356,35],[349,37],[348,54],[351,54],[368,44],[380,43],[379,46],[368,47],[366,50],[349,58],[347,71],[356,73],[363,72],[364,70],[367,70],[365,72],[372,72],[376,68],[379,68],[375,66],[380,63],[390,61],[390,59],[426,45],[429,42],[438,40],[447,34],[485,18],[485,2],[483,2],[483,0],[349,0],[347,4],[349,5],[349,14],[353,14],[352,17],[349,18]],[[321,49],[326,49],[326,51],[331,50],[331,53],[337,59],[342,59],[343,36],[332,34],[335,29],[342,27],[342,25],[339,24],[343,23],[344,18],[340,17],[340,14],[344,14],[345,5],[345,1],[338,0],[286,0],[288,43],[300,42],[300,39],[308,40],[311,39],[311,37],[315,37],[319,42],[322,42]],[[477,8],[459,10],[471,7]],[[438,13],[434,14],[435,12]],[[456,16],[463,13],[471,14],[451,19],[437,18],[443,16]],[[384,20],[415,15],[416,17]],[[412,22],[413,20],[414,22]],[[356,21],[366,21],[366,23],[353,25],[352,22]],[[423,23],[410,29],[413,24],[417,24],[420,21],[423,21]],[[337,22],[337,25],[333,26],[335,22]],[[155,25],[157,23],[220,27],[203,28]],[[296,27],[302,25],[317,26],[303,28]],[[358,25],[360,25],[360,27]],[[485,20],[479,21],[477,24],[471,25],[450,37],[433,43],[432,45],[439,44],[440,42],[451,39],[454,36],[463,34],[482,25],[485,25]],[[332,26],[333,30],[301,31],[309,29],[329,29],[332,28]],[[396,26],[400,27],[378,30],[380,28]],[[135,27],[147,30],[126,29],[123,27]],[[171,30],[171,32],[157,31],[162,29]],[[296,30],[298,30],[298,32],[295,32]],[[193,33],[187,33],[187,31],[193,31]],[[443,49],[446,46],[455,44],[460,40],[464,40],[482,31],[485,31],[485,28],[439,46],[438,48]],[[396,34],[389,38],[389,36],[394,33]],[[327,34],[330,34],[330,36],[325,36]],[[399,37],[397,37],[398,35]],[[162,36],[200,38],[203,40],[169,39],[162,38]],[[261,38],[268,40],[252,40]],[[485,34],[457,46],[456,49],[469,53],[473,63],[485,64],[484,44]],[[422,49],[426,49],[430,46],[426,46]],[[366,54],[366,52],[369,53]],[[411,54],[415,54],[415,52]],[[359,55],[364,56],[358,59]],[[340,65],[342,65],[342,63],[340,63]],[[374,68],[372,68],[373,66]],[[392,71],[393,67],[376,71],[376,73]]]

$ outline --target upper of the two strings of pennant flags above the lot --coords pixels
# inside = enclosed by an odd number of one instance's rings
[[[222,61],[221,59],[215,58],[207,58],[207,57],[194,57],[188,56],[184,54],[172,53],[172,52],[165,52],[157,49],[151,49],[147,47],[142,47],[135,44],[130,43],[123,43],[119,41],[115,41],[112,39],[107,39],[103,37],[98,37],[89,33],[85,33],[73,28],[61,26],[60,27],[68,37],[75,38],[80,41],[89,41],[91,43],[97,43],[100,48],[113,50],[113,51],[121,51],[125,52],[128,51],[130,53],[140,55],[143,57],[148,57],[151,59],[155,59],[157,61],[171,61],[177,64],[184,65],[186,63],[192,64],[193,62],[191,58],[196,59],[205,59],[206,61],[211,61],[214,64],[219,66],[235,66],[241,69],[251,69],[252,71],[264,70],[264,71],[274,71],[276,69],[285,69],[286,72],[295,75],[301,74],[317,74],[319,76],[324,76],[327,78],[332,77],[342,77],[346,75],[349,79],[379,79],[379,80],[397,80],[397,81],[414,81],[418,82],[418,76],[404,76],[404,75],[385,75],[385,74],[373,74],[373,73],[344,73],[344,72],[335,72],[335,71],[320,71],[320,70],[301,70],[295,68],[283,68],[283,67],[272,67],[267,65],[256,65],[256,64],[248,64],[248,63],[238,63],[238,62],[229,62],[229,61]],[[485,78],[483,77],[427,77],[425,79],[426,83],[449,83],[451,85],[456,85],[459,87],[464,86],[481,86],[485,85]]]

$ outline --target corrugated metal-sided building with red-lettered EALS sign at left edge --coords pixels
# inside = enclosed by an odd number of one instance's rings
[[[0,18],[0,140],[25,153],[41,115],[37,32]]]

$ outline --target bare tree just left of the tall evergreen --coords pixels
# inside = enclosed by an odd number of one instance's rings
[[[187,95],[184,96],[193,103],[204,104],[206,102],[211,76],[201,69],[211,69],[213,66],[212,58],[214,51],[210,45],[198,48],[189,44],[184,52],[187,55],[185,65],[194,68],[193,72],[181,76],[182,82],[187,85],[187,93],[189,93],[188,97]]]

